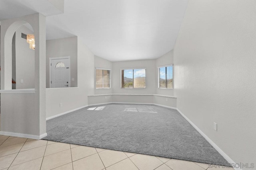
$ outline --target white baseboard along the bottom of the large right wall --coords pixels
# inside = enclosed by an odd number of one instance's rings
[[[176,110],[208,141],[214,149],[216,149],[230,164],[235,165],[236,163],[221,150],[207,135],[204,134],[188,117],[186,117],[178,108]],[[241,170],[240,168],[234,168],[235,170]]]

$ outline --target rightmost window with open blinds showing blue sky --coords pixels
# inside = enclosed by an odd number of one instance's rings
[[[158,88],[173,88],[172,65],[158,67]]]

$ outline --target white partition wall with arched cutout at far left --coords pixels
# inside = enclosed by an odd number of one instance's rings
[[[1,21],[1,123],[0,134],[39,139],[46,135],[45,51],[46,18],[32,14]],[[12,90],[12,37],[26,23],[34,29],[34,90]],[[16,33],[18,36],[18,34]],[[27,44],[28,45],[28,44]],[[28,48],[28,46],[26,46]],[[16,53],[17,55],[17,53]],[[16,58],[16,66],[19,64]],[[17,71],[17,70],[16,70]],[[32,136],[31,136],[32,135]]]

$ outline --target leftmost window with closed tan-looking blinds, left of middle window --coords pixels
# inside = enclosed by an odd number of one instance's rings
[[[110,88],[110,69],[96,68],[96,88]]]

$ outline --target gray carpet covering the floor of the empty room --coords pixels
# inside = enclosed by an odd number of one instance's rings
[[[174,109],[154,105],[104,106],[103,110],[86,107],[48,120],[48,136],[44,139],[230,166]]]

